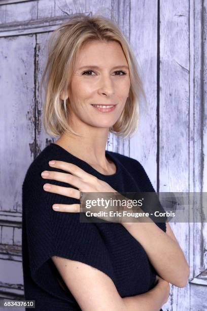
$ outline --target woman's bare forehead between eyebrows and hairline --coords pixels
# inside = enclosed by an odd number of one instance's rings
[[[121,61],[121,64],[120,64]],[[127,65],[127,60],[122,50],[121,45],[116,41],[101,42],[89,41],[79,50],[77,56],[77,66],[87,65],[102,66],[116,66]]]

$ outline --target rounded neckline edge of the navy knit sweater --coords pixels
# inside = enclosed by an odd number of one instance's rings
[[[106,155],[106,158],[110,159],[112,162],[114,162],[115,166],[116,166],[116,172],[114,174],[111,174],[111,175],[106,175],[106,174],[102,174],[100,173],[99,171],[95,170],[90,164],[88,164],[86,161],[76,157],[74,154],[72,154],[71,152],[67,151],[65,148],[61,147],[60,145],[58,144],[55,144],[55,143],[50,143],[50,146],[55,146],[56,148],[58,149],[61,149],[62,151],[64,151],[65,153],[67,154],[70,154],[72,158],[74,158],[76,161],[78,161],[80,164],[83,164],[85,166],[87,166],[91,172],[93,173],[96,173],[97,175],[100,175],[100,176],[103,176],[105,178],[109,177],[116,177],[117,175],[119,175],[120,173],[120,165],[118,163],[118,161],[115,159],[115,157],[113,156],[112,152],[109,151],[109,150],[105,150],[105,155]]]

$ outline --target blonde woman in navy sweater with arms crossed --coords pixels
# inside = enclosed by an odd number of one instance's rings
[[[49,48],[44,126],[59,138],[22,187],[25,299],[38,310],[160,310],[169,283],[189,275],[169,225],[79,219],[81,192],[155,192],[138,161],[106,150],[109,131],[136,130],[144,91],[133,53],[111,20],[82,14]]]

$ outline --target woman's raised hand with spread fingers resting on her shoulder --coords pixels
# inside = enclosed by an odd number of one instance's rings
[[[54,185],[51,183],[46,183],[43,186],[43,189],[47,192],[57,193],[66,197],[71,197],[75,199],[80,199],[81,192],[109,192],[116,193],[116,190],[113,189],[107,182],[99,180],[97,177],[85,172],[80,167],[73,163],[67,163],[63,161],[52,161],[54,164],[49,162],[51,167],[55,167],[61,170],[64,170],[68,173],[56,172],[56,171],[44,171],[42,172],[42,177],[46,179],[53,179],[58,181],[63,181],[65,183],[70,183],[75,186],[77,189],[68,188],[63,186]],[[46,174],[44,175],[43,173]],[[46,185],[49,185],[49,188],[46,189]],[[91,197],[90,197],[91,198]],[[58,209],[55,209],[55,206],[58,206]],[[80,212],[80,204],[53,204],[53,209],[55,211],[62,212]],[[97,211],[97,209],[96,209]],[[100,219],[108,220],[108,217],[98,216]]]

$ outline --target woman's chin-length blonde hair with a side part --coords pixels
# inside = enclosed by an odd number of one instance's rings
[[[60,136],[64,132],[79,136],[68,125],[66,107],[68,99],[66,105],[62,105],[60,96],[65,94],[70,86],[78,51],[84,43],[91,40],[116,41],[121,45],[125,54],[130,77],[129,96],[119,119],[109,128],[109,132],[126,138],[137,130],[140,98],[143,96],[147,102],[146,95],[138,72],[139,65],[129,43],[118,25],[101,15],[75,14],[51,34],[47,63],[40,84],[41,93],[42,86],[45,85],[44,129],[52,136]]]

